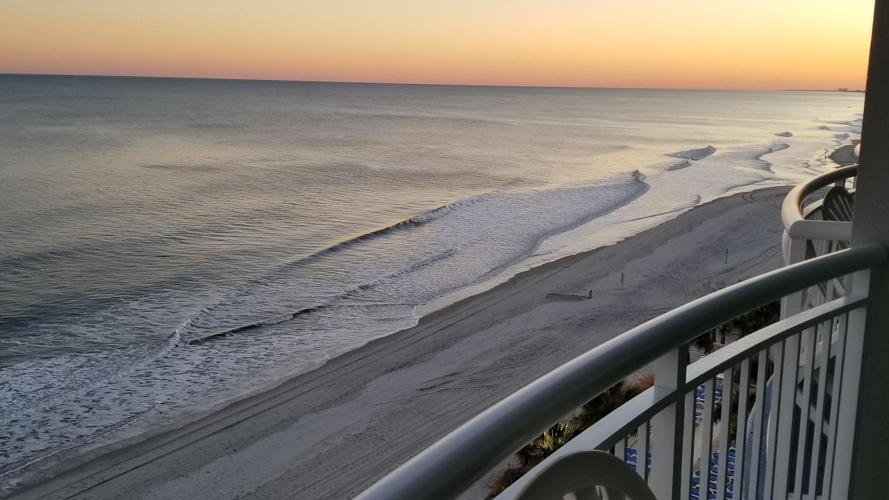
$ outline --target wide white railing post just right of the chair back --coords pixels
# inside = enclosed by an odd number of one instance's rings
[[[683,425],[685,423],[685,367],[688,347],[683,345],[654,362],[654,387],[672,391],[673,402],[652,418],[652,472],[648,486],[658,500],[677,500],[680,495],[683,464]],[[644,453],[640,451],[640,453]],[[638,464],[646,457],[639,456]]]

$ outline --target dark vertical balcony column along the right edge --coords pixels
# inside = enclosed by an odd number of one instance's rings
[[[870,38],[868,84],[864,96],[864,117],[861,123],[861,156],[855,193],[855,214],[852,222],[852,245],[877,242],[889,247],[889,224],[886,223],[886,193],[889,192],[889,0],[876,0],[874,24]],[[863,281],[863,280],[862,280]],[[855,282],[853,280],[853,294]],[[860,285],[861,286],[861,285]],[[878,458],[889,443],[889,265],[882,264],[870,272],[869,304],[861,339],[861,376],[857,394],[854,433],[849,442],[837,439],[835,460],[851,464],[849,484],[844,498],[885,498],[889,491],[889,474],[885,462]],[[850,326],[853,318],[850,317]],[[861,319],[856,319],[861,324]],[[850,328],[850,331],[851,328]],[[848,341],[846,341],[848,342]],[[844,367],[845,369],[845,367]],[[845,392],[839,394],[846,398]],[[843,403],[840,402],[840,407]],[[850,448],[851,449],[848,449]],[[876,455],[875,455],[876,454]],[[836,480],[835,480],[836,481]],[[825,492],[824,496],[829,496]],[[835,497],[832,496],[831,497]],[[836,496],[840,497],[840,496]]]

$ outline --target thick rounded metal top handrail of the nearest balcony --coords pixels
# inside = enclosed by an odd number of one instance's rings
[[[701,332],[821,281],[869,269],[885,258],[879,244],[855,246],[767,272],[670,310],[501,400],[356,500],[454,498],[549,425]]]

